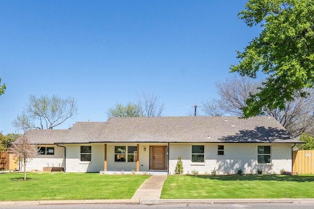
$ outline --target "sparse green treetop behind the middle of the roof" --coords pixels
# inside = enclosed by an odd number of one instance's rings
[[[116,103],[114,108],[109,108],[107,111],[108,117],[140,117],[141,108],[138,104],[129,102],[127,105]]]

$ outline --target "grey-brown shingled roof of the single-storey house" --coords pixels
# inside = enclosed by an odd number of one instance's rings
[[[112,117],[70,130],[30,130],[36,143],[273,142],[300,143],[273,117]]]

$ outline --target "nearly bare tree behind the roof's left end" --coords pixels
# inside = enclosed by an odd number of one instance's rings
[[[30,95],[25,111],[17,116],[12,125],[21,130],[53,129],[68,118],[74,118],[77,111],[77,102],[71,96],[62,99],[57,95],[42,95],[39,98]]]

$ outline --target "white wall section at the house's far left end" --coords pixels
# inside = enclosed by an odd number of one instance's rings
[[[36,147],[54,147],[54,155],[36,155],[26,163],[26,170],[42,171],[44,167],[64,167],[64,148],[56,145],[38,144]],[[23,170],[22,165],[22,170]]]

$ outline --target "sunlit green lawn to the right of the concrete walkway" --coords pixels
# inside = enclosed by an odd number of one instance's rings
[[[314,198],[314,175],[171,175],[160,198]]]

